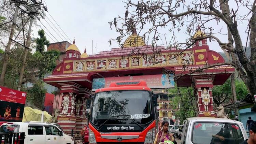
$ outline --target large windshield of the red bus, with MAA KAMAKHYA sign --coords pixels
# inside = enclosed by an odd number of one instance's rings
[[[148,91],[106,91],[95,95],[91,122],[96,125],[146,124],[152,119]]]

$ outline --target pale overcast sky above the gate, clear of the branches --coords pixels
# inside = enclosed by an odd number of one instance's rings
[[[95,1],[44,0],[44,1],[47,5],[48,12],[53,16],[53,18],[57,21],[59,26],[68,35],[68,37],[72,41],[75,37],[75,44],[77,45],[77,47],[80,49],[82,53],[84,52],[84,48],[86,47],[87,54],[89,55],[91,54],[92,40],[93,40],[93,47],[94,47],[93,54],[96,53],[96,43],[98,45],[98,52],[107,51],[111,48],[118,47],[118,44],[116,42],[112,41],[111,46],[108,42],[111,38],[116,38],[118,36],[118,33],[115,30],[110,29],[110,25],[108,24],[108,22],[112,21],[113,18],[118,15],[124,16],[124,12],[125,12],[124,6],[126,6],[126,4],[123,3],[121,0],[97,0],[97,1],[96,0]],[[48,13],[46,13],[46,16],[54,23],[54,21],[52,20],[52,18],[49,16]],[[49,24],[51,24],[47,18],[45,19],[48,21]],[[41,21],[59,42],[62,41],[61,38],[53,31],[53,29],[46,23],[44,19],[41,19]],[[216,22],[213,22],[212,24],[216,25],[215,23]],[[245,41],[246,41],[245,38],[247,36],[244,32],[246,29],[246,25],[247,24],[244,24],[239,27],[239,31],[241,31],[241,37],[242,39],[244,39],[243,45],[245,45]],[[221,29],[223,26],[224,25],[217,25],[217,27],[215,27],[215,30],[219,31],[219,29]],[[45,30],[47,34],[51,35],[43,26],[42,28]],[[38,29],[39,29],[38,27],[33,28],[34,37],[37,37]],[[224,26],[222,33],[225,34],[226,33],[225,31],[226,31],[226,27]],[[168,36],[169,36],[168,31],[163,31],[163,32],[167,34],[167,39],[168,39]],[[62,37],[62,35],[58,31],[57,33]],[[226,35],[218,34],[215,36],[218,36],[221,40],[223,40],[223,42],[227,42]],[[46,37],[51,43],[54,43],[54,41],[50,39],[47,35]],[[52,35],[51,37],[53,38]],[[179,42],[184,42],[185,41],[184,37],[187,37],[187,35],[183,33],[177,34],[177,40]],[[70,42],[69,39],[67,40]],[[221,48],[218,46],[216,42],[213,42],[213,43],[209,42],[208,45],[210,46],[210,49],[217,52],[222,52]]]

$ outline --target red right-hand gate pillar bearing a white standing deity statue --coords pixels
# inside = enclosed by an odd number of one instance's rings
[[[216,117],[213,110],[212,78],[194,78],[198,117]]]

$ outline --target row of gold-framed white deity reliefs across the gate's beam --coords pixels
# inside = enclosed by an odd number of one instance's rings
[[[175,53],[164,53],[161,55],[144,55],[133,57],[116,57],[104,59],[74,60],[73,72],[105,71],[118,69],[136,69],[147,67],[179,66],[183,63],[193,64],[192,51],[186,51],[179,55]],[[71,67],[72,68],[72,67]],[[72,70],[70,68],[70,70]],[[71,72],[71,71],[70,71]]]

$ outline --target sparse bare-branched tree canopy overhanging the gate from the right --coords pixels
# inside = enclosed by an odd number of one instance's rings
[[[236,68],[251,95],[256,94],[256,0],[127,0],[125,8],[124,15],[118,15],[109,23],[119,32],[115,40],[120,46],[134,27],[152,46],[163,43],[166,32],[171,35],[166,38],[167,48],[187,49],[196,41],[208,38],[230,54],[231,61],[206,64],[188,74],[228,64]],[[239,31],[240,26],[247,29]],[[194,38],[199,27],[205,36]],[[176,39],[178,33],[184,34],[182,39]],[[226,38],[219,38],[223,33]],[[241,38],[242,34],[246,39]],[[247,51],[251,51],[249,57]]]

